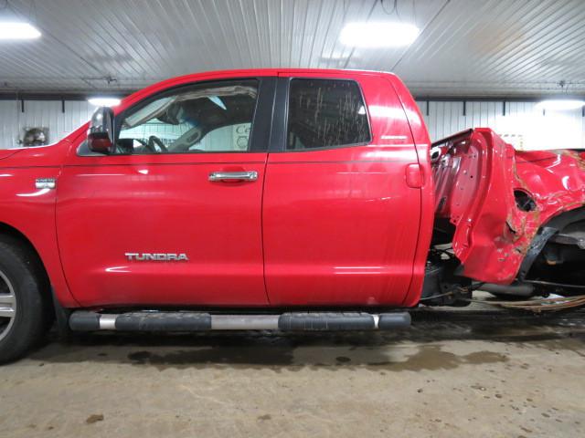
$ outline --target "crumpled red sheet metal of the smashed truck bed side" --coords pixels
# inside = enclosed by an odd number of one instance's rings
[[[515,151],[489,129],[447,147],[434,167],[437,215],[456,226],[453,250],[463,275],[509,284],[538,228],[585,203],[583,160],[574,151]],[[516,208],[515,190],[528,193],[536,210]]]

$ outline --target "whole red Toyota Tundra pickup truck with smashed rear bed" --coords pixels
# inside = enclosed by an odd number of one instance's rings
[[[371,71],[174,78],[0,151],[0,360],[63,330],[392,329],[585,285],[585,156],[431,144]]]

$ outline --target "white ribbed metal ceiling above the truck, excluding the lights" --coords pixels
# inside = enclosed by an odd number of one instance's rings
[[[399,0],[398,14],[393,3],[9,0],[43,36],[0,42],[0,91],[115,91],[206,70],[309,67],[394,71],[418,96],[537,96],[560,80],[585,93],[585,0]],[[419,38],[386,49],[338,41],[346,23],[389,20],[415,22]]]

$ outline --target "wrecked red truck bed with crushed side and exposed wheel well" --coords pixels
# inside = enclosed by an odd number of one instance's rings
[[[518,295],[582,284],[585,152],[515,151],[474,129],[433,143],[431,162],[435,234],[461,276]]]

